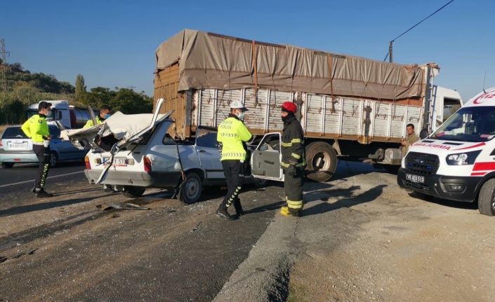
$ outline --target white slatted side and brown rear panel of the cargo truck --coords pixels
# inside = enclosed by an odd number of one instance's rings
[[[164,97],[162,112],[175,110],[177,133],[191,137],[197,126],[217,127],[229,114],[230,102],[246,104],[245,123],[253,134],[281,131],[280,106],[287,100],[299,103],[299,117],[306,137],[349,139],[361,144],[400,142],[406,125],[420,129],[423,107],[420,99],[400,101],[315,95],[260,88],[205,88],[178,92],[179,68],[174,64],[154,79],[154,100]]]

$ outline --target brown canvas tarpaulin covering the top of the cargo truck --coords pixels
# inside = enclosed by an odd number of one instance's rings
[[[380,62],[190,29],[161,43],[156,60],[157,73],[179,63],[178,91],[268,88],[375,99],[425,95],[425,71],[417,65]],[[155,81],[160,81],[159,76]]]

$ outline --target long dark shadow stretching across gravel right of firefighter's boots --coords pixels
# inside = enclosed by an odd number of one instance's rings
[[[362,203],[369,203],[370,201],[373,201],[376,198],[378,198],[378,196],[380,196],[383,193],[383,188],[385,186],[387,185],[381,184],[375,186],[374,188],[370,188],[368,191],[365,191],[359,195],[337,200],[336,203],[319,203],[314,207],[308,207],[307,209],[304,210],[303,216],[322,214],[333,210],[338,210],[341,207],[352,207],[355,205],[360,205]],[[343,193],[344,195],[347,195],[347,193],[343,191],[348,191],[348,190],[336,189],[335,191],[337,191],[337,193],[341,193],[341,194]]]

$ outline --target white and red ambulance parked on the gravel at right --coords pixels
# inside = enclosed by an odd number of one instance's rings
[[[402,188],[447,200],[477,202],[495,215],[495,88],[484,90],[412,144],[402,158]]]

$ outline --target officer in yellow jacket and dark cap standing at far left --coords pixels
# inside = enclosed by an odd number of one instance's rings
[[[46,176],[50,170],[51,150],[50,150],[50,131],[46,123],[46,116],[51,113],[51,103],[39,102],[38,114],[31,116],[24,124],[22,131],[32,140],[33,151],[39,160],[39,172],[34,181],[34,189],[37,198],[52,197],[53,194],[46,193],[44,190]]]

